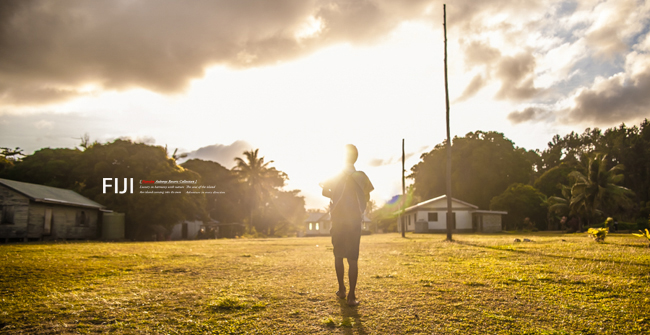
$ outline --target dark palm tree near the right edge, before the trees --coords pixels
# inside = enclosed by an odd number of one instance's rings
[[[608,157],[596,154],[587,162],[587,174],[573,171],[569,177],[574,180],[571,187],[571,212],[592,223],[596,216],[604,210],[614,210],[618,207],[628,208],[632,205],[630,196],[634,193],[620,184],[623,181],[624,167],[618,164],[607,169]]]

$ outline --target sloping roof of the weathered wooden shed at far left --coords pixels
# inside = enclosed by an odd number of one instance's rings
[[[20,181],[1,179],[0,185],[4,185],[35,202],[44,202],[51,204],[59,204],[65,206],[79,206],[90,208],[104,208],[103,205],[98,204],[83,195],[62,188],[51,186],[23,183]]]

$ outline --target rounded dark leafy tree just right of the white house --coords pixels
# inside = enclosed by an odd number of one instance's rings
[[[508,212],[504,217],[506,229],[522,229],[526,218],[537,229],[545,230],[547,227],[544,194],[530,185],[510,185],[503,193],[492,198],[490,209]]]

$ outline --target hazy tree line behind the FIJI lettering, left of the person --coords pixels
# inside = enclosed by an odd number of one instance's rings
[[[22,157],[21,157],[22,156]],[[227,169],[219,163],[171,155],[166,147],[118,139],[90,143],[82,137],[80,148],[43,148],[23,155],[20,148],[2,148],[0,178],[74,190],[108,209],[125,213],[127,238],[143,239],[152,231],[183,220],[241,223],[246,233],[283,236],[299,230],[305,201],[299,190],[284,190],[288,176],[265,162],[259,149],[236,158]],[[103,178],[139,180],[196,180],[214,185],[210,194],[103,193]]]

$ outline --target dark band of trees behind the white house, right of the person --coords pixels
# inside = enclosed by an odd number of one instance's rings
[[[445,194],[446,141],[411,168],[407,206]],[[452,196],[505,210],[505,229],[582,230],[607,217],[647,227],[650,123],[555,135],[544,150],[517,147],[502,133],[475,131],[452,140]],[[374,213],[392,230],[399,199]]]

